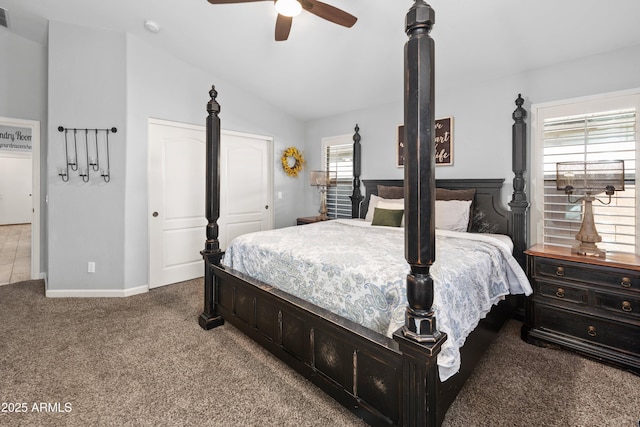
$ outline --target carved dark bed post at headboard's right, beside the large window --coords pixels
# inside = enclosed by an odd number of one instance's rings
[[[520,266],[525,268],[524,251],[527,249],[527,208],[529,202],[527,202],[527,194],[524,192],[524,172],[527,170],[527,124],[524,120],[527,118],[527,111],[522,108],[523,103],[522,95],[518,94],[517,108],[512,115],[514,123],[511,150],[513,153],[512,169],[515,177],[513,178],[513,195],[509,206],[513,212],[513,256],[520,263]],[[515,230],[521,232],[515,232]]]

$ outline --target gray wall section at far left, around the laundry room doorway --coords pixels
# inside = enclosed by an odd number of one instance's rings
[[[40,122],[40,188],[46,188],[47,49],[0,27],[0,116]],[[46,204],[40,200],[40,267],[46,269]]]

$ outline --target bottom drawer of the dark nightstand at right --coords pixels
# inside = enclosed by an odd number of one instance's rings
[[[536,327],[625,352],[640,352],[639,324],[609,321],[538,304]]]

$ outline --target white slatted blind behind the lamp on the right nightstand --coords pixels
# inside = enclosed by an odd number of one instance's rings
[[[593,202],[594,219],[607,251],[636,252],[638,208],[636,202],[637,111],[613,109],[543,119],[543,236],[544,243],[574,246],[582,224],[583,204],[570,203],[556,189],[556,163],[624,160],[625,191],[616,192],[611,204]],[[582,194],[576,194],[572,200]],[[597,197],[605,203],[608,197]]]

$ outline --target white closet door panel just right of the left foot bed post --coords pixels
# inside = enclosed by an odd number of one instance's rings
[[[273,141],[222,131],[220,162],[220,247],[235,237],[273,228]]]

